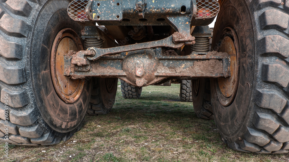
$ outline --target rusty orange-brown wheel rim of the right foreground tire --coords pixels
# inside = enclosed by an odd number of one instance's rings
[[[219,52],[226,52],[230,55],[230,77],[218,78],[217,94],[223,106],[231,104],[236,96],[239,84],[239,43],[238,37],[232,28],[225,28],[221,34]]]

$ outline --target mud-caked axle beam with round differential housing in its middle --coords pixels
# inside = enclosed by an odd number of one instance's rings
[[[188,56],[163,56],[162,48],[123,52],[91,61],[90,71],[71,72],[72,77],[117,77],[134,86],[148,86],[169,77],[228,77],[229,56],[211,52]],[[67,62],[69,64],[69,62]]]

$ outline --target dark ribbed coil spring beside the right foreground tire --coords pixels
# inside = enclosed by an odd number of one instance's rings
[[[191,53],[210,51],[210,39],[208,37],[196,37],[195,42],[196,43],[191,46]]]

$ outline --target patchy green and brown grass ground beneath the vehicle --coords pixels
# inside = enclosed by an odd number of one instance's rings
[[[289,161],[288,154],[265,155],[230,149],[213,120],[194,114],[179,99],[179,84],[148,86],[140,99],[123,99],[120,86],[113,111],[86,116],[70,140],[53,146],[10,145],[0,161]]]

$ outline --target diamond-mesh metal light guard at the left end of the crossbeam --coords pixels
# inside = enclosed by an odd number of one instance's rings
[[[88,0],[74,0],[69,3],[67,8],[69,17],[75,21],[88,21],[85,13],[87,3]]]

